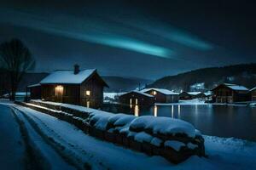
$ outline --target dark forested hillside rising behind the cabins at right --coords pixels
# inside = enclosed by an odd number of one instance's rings
[[[210,67],[188,71],[175,76],[163,77],[148,87],[190,91],[191,85],[204,82],[205,91],[219,83],[235,83],[247,88],[256,86],[256,63]]]

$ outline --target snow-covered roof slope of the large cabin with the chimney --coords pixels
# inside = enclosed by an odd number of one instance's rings
[[[49,74],[48,77],[45,77],[40,84],[80,84],[84,82],[91,74],[93,74],[96,69],[89,69],[79,71],[78,74],[74,74],[73,70],[70,71],[54,71]]]

